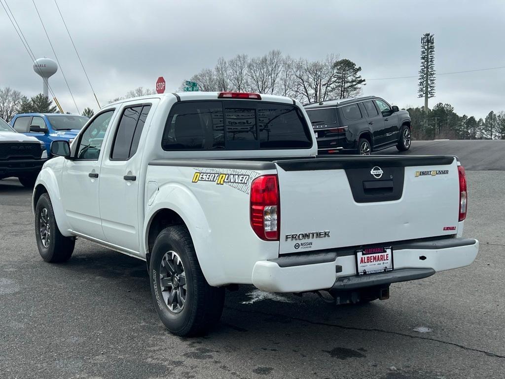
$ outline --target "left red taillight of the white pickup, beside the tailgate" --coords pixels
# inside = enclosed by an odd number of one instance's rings
[[[280,199],[277,175],[265,175],[251,183],[252,230],[265,241],[279,241]]]

